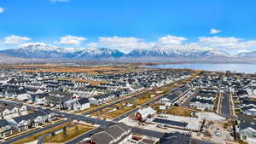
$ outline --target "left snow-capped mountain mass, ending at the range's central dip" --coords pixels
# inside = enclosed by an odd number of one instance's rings
[[[117,58],[124,53],[116,49],[96,48],[61,48],[45,43],[25,43],[18,49],[0,51],[3,55],[21,58],[56,59],[56,60],[91,60]]]

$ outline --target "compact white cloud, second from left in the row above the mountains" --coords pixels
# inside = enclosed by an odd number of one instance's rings
[[[86,40],[87,40],[87,38],[85,38],[85,37],[66,36],[66,37],[61,37],[58,43],[78,46],[83,41],[86,41]]]

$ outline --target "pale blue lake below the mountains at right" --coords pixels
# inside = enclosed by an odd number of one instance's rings
[[[166,64],[143,66],[148,68],[187,68],[192,70],[205,70],[214,72],[242,72],[242,73],[256,73],[256,64],[245,63],[188,63],[188,64]]]

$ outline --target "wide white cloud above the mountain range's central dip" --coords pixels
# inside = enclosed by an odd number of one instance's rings
[[[89,43],[92,47],[107,47],[110,49],[119,49],[123,52],[130,52],[133,49],[148,49],[153,47],[154,43],[143,42],[143,39],[137,37],[99,37],[96,43]]]

